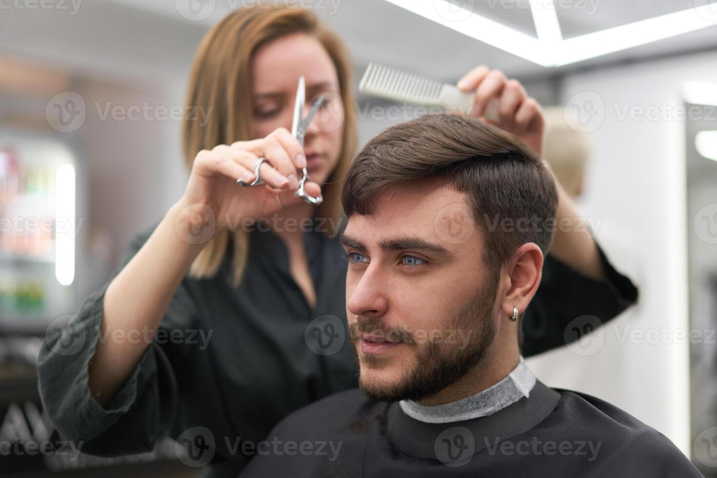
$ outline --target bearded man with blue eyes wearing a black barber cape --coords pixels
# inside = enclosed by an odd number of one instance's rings
[[[556,189],[522,143],[425,115],[364,147],[343,206],[360,390],[288,416],[242,476],[701,476],[663,434],[523,362]]]

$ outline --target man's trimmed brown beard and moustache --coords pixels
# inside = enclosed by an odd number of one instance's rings
[[[359,388],[365,396],[375,400],[394,402],[401,400],[418,401],[442,391],[465,376],[468,371],[478,365],[488,353],[490,344],[495,338],[495,324],[493,324],[493,303],[498,290],[498,280],[486,282],[488,287],[478,291],[470,302],[462,305],[452,322],[444,324],[441,340],[419,344],[413,333],[407,328],[391,328],[380,318],[376,320],[357,317],[349,327],[349,335],[358,349],[359,332],[364,334],[378,333],[379,336],[391,341],[399,341],[413,350],[416,356],[416,365],[413,370],[402,373],[395,383],[389,385],[373,385],[362,380],[359,374]],[[458,331],[467,333],[467,345],[460,347],[458,343],[444,343],[450,339],[452,330],[453,340],[456,337],[465,337]],[[358,350],[356,362],[361,368]],[[364,365],[371,366],[391,360],[381,355],[364,354]]]

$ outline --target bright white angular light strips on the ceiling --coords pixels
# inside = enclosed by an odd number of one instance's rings
[[[549,8],[546,5],[549,2],[538,4],[536,0],[531,0],[533,22],[538,34],[538,38],[534,38],[511,27],[505,27],[475,11],[447,15],[445,11],[450,11],[449,9],[457,11],[455,9],[458,8],[449,0],[386,1],[543,67],[559,67],[581,62],[717,24],[717,13],[712,11],[714,6],[707,4],[600,32],[562,39],[554,6]],[[440,11],[444,11],[444,14]]]

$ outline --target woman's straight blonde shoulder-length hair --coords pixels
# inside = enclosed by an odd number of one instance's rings
[[[186,104],[211,112],[206,124],[184,120],[182,145],[186,166],[191,171],[197,153],[219,144],[250,140],[252,132],[252,59],[259,47],[293,33],[309,34],[323,45],[336,67],[339,94],[346,119],[343,123],[339,161],[322,188],[324,202],[317,215],[341,224],[341,186],[358,143],[351,85],[351,61],[341,39],[324,26],[313,12],[287,6],[255,6],[234,11],[204,37],[194,58]],[[326,234],[331,234],[328,231]],[[249,254],[250,234],[241,228],[224,231],[209,241],[191,264],[190,277],[211,277],[217,273],[233,245],[234,287],[242,282]]]

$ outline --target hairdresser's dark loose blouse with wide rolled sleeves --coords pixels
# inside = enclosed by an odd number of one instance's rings
[[[285,244],[257,226],[242,285],[232,287],[229,259],[215,277],[185,277],[161,322],[163,335],[156,335],[106,408],[90,396],[87,368],[110,281],[87,297],[65,336],[47,340],[38,359],[42,402],[60,434],[84,441],[87,453],[116,456],[150,451],[163,435],[176,439],[206,427],[216,450],[204,474],[235,477],[250,459],[237,439],[256,444],[290,412],[356,387],[345,326],[348,262],[338,236],[327,237],[318,222],[313,225],[303,234],[315,309],[290,273]],[[155,227],[134,237],[115,274]],[[541,285],[523,314],[523,355],[577,338],[566,330],[576,317],[592,315],[604,323],[637,300],[630,279],[599,252],[607,275],[602,280],[546,257]],[[68,342],[67,333],[80,342]]]

